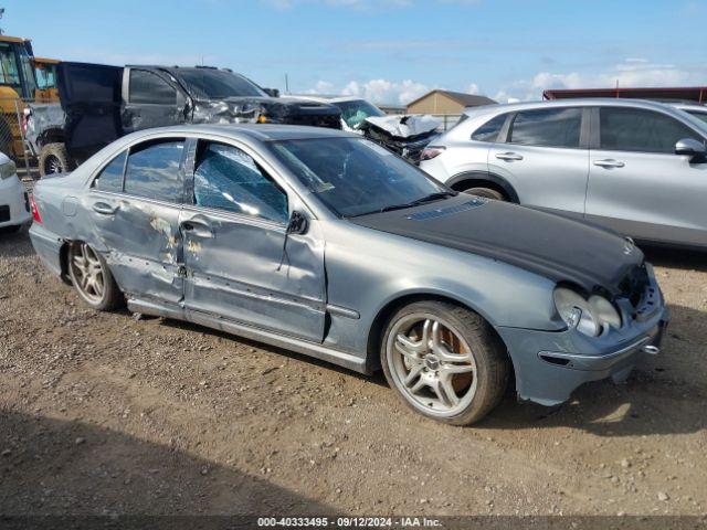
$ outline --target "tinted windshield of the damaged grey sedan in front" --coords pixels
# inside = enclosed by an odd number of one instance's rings
[[[342,218],[411,208],[456,194],[362,138],[312,138],[271,145],[297,179]]]

